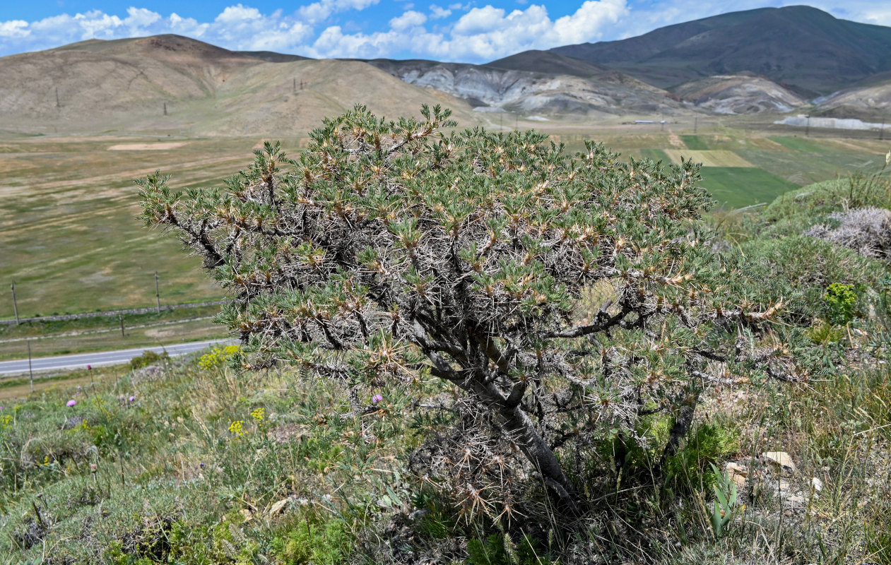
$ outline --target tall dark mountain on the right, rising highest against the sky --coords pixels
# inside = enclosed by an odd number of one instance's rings
[[[787,6],[725,13],[639,37],[552,51],[662,88],[750,71],[813,97],[891,69],[891,28]]]

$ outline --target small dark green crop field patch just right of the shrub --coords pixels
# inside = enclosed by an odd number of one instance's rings
[[[783,192],[797,188],[797,184],[762,168],[703,167],[702,177],[702,186],[716,201],[730,208],[771,202]]]

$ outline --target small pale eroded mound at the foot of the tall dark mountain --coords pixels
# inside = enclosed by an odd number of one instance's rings
[[[807,103],[772,80],[750,75],[699,78],[672,90],[699,108],[719,114],[787,112]]]

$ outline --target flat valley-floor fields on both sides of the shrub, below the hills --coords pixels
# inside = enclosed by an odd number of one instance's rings
[[[711,151],[753,168],[703,169],[707,187],[729,207],[770,201],[796,186],[871,170],[891,143],[846,138],[767,136],[731,119],[661,127],[536,124],[569,152],[584,140],[628,157],[670,162],[667,151]],[[532,124],[529,124],[532,126]],[[220,184],[244,168],[257,137],[188,138],[122,135],[24,136],[0,139],[0,283],[16,282],[19,314],[53,315],[151,306],[154,273],[163,303],[217,299],[221,291],[186,257],[175,239],[151,232],[139,214],[133,178],[157,168],[176,189]],[[679,143],[683,142],[685,148]],[[176,143],[173,147],[168,143]],[[291,154],[305,143],[282,140]],[[111,151],[115,146],[129,151]],[[136,150],[142,146],[143,149]],[[150,149],[153,149],[151,151]],[[705,157],[703,158],[705,160]],[[8,289],[8,287],[6,287]],[[0,318],[12,317],[12,297],[0,296]]]

